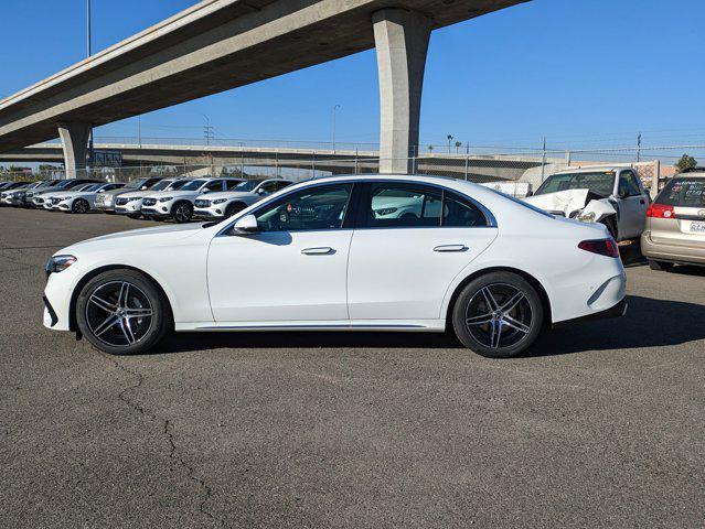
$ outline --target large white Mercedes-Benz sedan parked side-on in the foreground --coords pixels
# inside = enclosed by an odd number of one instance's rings
[[[46,273],[44,325],[110,354],[172,330],[452,328],[511,357],[554,324],[627,309],[605,226],[434,176],[302,182],[221,223],[73,245]]]

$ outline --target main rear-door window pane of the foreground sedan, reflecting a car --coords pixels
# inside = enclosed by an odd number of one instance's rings
[[[364,226],[368,228],[440,226],[442,193],[435,187],[395,182],[371,186]]]

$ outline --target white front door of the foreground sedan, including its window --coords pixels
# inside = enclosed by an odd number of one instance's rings
[[[344,228],[352,184],[293,192],[254,212],[259,231],[222,234],[209,252],[209,291],[218,324],[348,325]]]

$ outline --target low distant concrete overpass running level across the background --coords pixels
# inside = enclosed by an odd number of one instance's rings
[[[370,173],[380,170],[380,152],[363,150],[293,149],[245,145],[170,145],[148,143],[96,143],[102,151],[121,153],[125,166],[138,165],[238,165],[282,169],[316,169],[333,174]],[[0,153],[0,162],[63,162],[61,143],[40,143]],[[546,159],[547,164],[563,159]],[[405,161],[406,163],[406,161]],[[541,155],[425,153],[410,160],[412,172],[468,177],[476,182],[517,181],[540,168]]]

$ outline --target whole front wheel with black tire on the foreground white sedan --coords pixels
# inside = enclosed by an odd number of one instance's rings
[[[161,290],[142,273],[126,269],[109,270],[86,283],[76,301],[76,322],[86,339],[109,355],[146,353],[172,328]]]

